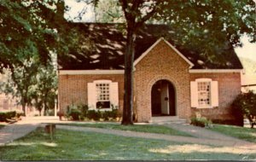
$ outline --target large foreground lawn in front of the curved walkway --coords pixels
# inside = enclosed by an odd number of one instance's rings
[[[0,147],[0,160],[154,160],[255,159],[245,149],[222,148],[92,132],[56,130],[51,142],[44,129]]]

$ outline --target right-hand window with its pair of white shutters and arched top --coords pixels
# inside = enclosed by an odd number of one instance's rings
[[[218,82],[211,78],[198,78],[190,83],[191,107],[218,107]]]

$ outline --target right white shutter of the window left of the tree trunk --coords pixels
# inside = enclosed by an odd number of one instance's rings
[[[113,107],[119,106],[119,85],[117,82],[109,84],[109,100]]]

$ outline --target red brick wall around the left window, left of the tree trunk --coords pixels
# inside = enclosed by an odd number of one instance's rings
[[[121,74],[59,75],[60,108],[66,112],[71,104],[87,104],[87,84],[95,80],[111,80],[119,83],[119,109],[123,107],[124,78]]]

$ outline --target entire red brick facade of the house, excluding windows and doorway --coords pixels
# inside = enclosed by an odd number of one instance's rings
[[[230,103],[240,94],[240,73],[189,73],[189,64],[160,41],[135,67],[134,72],[134,113],[137,122],[151,119],[151,90],[161,80],[173,84],[176,93],[176,115],[189,119],[196,112],[209,119],[230,119]],[[218,81],[219,107],[195,109],[190,107],[190,81],[196,78],[212,78]],[[68,105],[87,104],[87,83],[108,79],[119,83],[119,111],[123,109],[124,76],[112,75],[61,75],[59,76],[60,108],[66,111]]]

